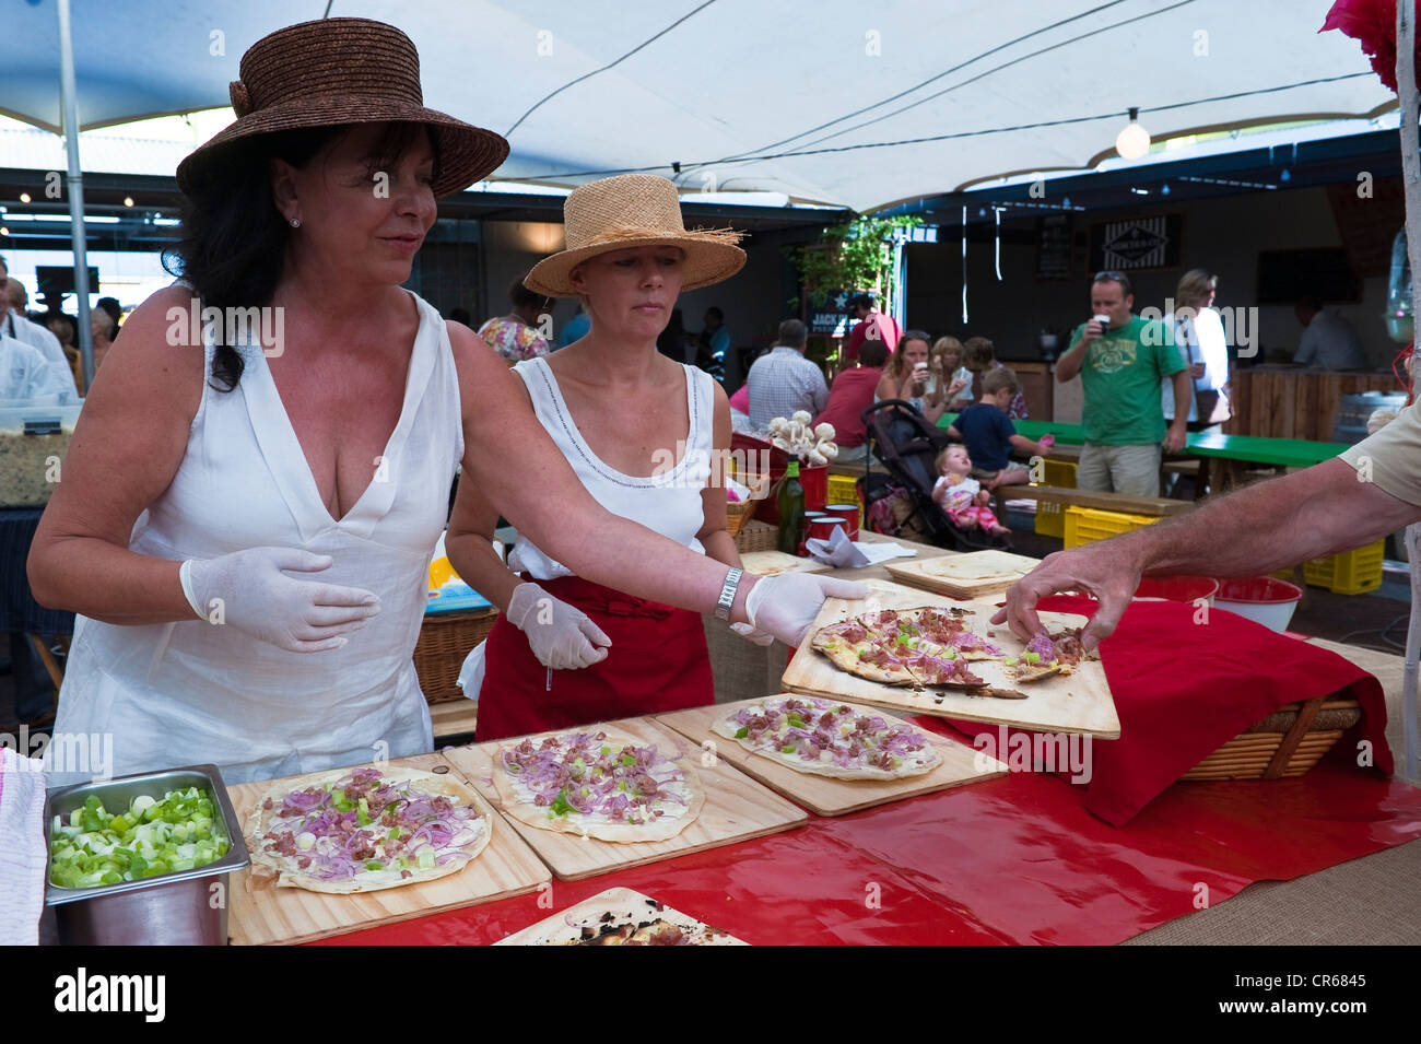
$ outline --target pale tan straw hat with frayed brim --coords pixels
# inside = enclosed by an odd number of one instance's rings
[[[578,186],[563,203],[567,250],[544,257],[523,286],[549,297],[577,297],[568,276],[588,257],[627,247],[674,246],[686,253],[682,290],[730,278],[745,264],[735,229],[686,232],[676,186],[655,175],[618,175]]]

